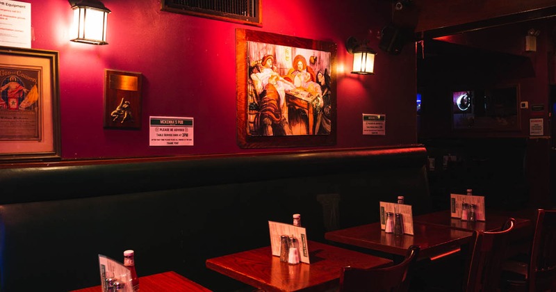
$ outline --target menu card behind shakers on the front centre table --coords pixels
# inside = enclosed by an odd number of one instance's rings
[[[280,256],[280,236],[293,236],[300,244],[300,261],[309,263],[309,245],[307,245],[307,233],[304,227],[297,227],[291,224],[268,221],[268,229],[270,230],[270,247],[272,255]]]

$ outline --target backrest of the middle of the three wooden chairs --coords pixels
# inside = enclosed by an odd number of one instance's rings
[[[464,291],[498,291],[502,260],[505,257],[510,232],[516,220],[509,218],[499,232],[473,232],[473,252],[468,262]]]

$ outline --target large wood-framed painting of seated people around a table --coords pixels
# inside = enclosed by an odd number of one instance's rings
[[[240,147],[336,144],[336,47],[236,29]]]

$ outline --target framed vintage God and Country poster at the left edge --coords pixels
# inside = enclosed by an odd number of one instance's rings
[[[0,161],[60,159],[58,52],[0,47]]]

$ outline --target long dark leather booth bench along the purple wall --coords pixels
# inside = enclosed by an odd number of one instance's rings
[[[99,284],[98,254],[138,274],[174,270],[214,291],[205,267],[269,245],[268,220],[302,215],[309,239],[375,222],[379,201],[430,206],[422,145],[21,165],[0,169],[0,291]]]

